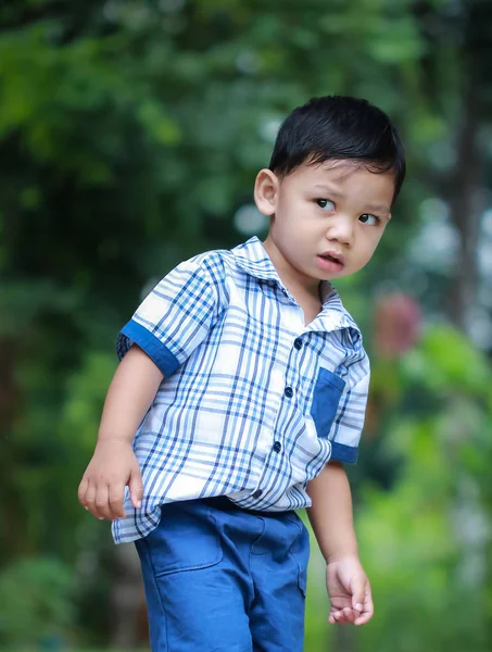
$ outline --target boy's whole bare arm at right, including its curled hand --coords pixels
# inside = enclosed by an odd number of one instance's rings
[[[313,531],[327,563],[329,622],[364,625],[374,614],[370,586],[358,560],[352,496],[343,465],[329,463],[307,486]]]

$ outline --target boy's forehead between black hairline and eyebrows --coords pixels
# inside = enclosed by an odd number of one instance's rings
[[[364,161],[325,161],[324,163],[302,163],[285,180],[306,190],[330,190],[332,195],[354,197],[366,201],[384,203],[391,206],[395,190],[394,174],[371,172],[370,164]]]

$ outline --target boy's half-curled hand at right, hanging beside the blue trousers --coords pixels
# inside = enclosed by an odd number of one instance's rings
[[[370,585],[357,556],[329,562],[326,584],[330,599],[328,622],[365,625],[374,614]]]

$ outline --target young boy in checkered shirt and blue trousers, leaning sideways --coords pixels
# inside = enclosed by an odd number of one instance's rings
[[[119,334],[78,496],[114,522],[116,542],[136,541],[152,650],[301,651],[302,507],[327,564],[329,623],[373,616],[343,467],[369,364],[329,281],[369,262],[404,175],[384,113],[311,100],[256,177],[266,240],[181,263]]]

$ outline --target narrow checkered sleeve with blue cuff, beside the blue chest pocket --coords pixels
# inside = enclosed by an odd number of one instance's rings
[[[367,396],[369,391],[367,373],[351,388],[345,388],[340,398],[337,416],[331,426],[329,439],[331,441],[331,460],[355,464],[358,455],[366,414]]]

